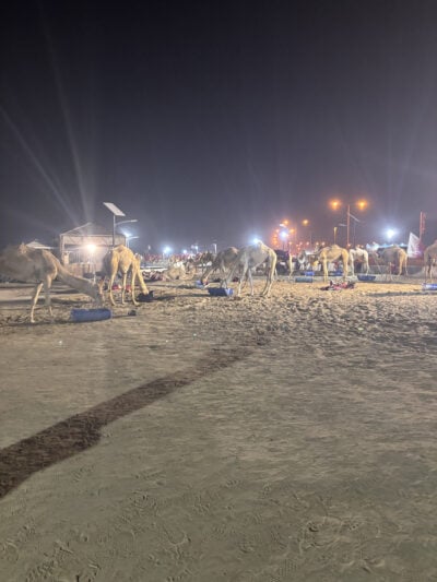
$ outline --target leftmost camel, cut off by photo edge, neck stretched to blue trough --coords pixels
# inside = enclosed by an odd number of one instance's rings
[[[103,294],[98,285],[70,273],[55,254],[45,249],[34,249],[26,245],[7,247],[0,253],[0,273],[17,281],[35,283],[31,299],[31,323],[35,323],[35,306],[43,288],[45,305],[50,317],[54,317],[50,288],[56,277],[73,289],[92,297],[99,307],[103,306]]]

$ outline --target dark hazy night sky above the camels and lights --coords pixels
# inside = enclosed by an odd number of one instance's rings
[[[87,221],[132,247],[265,241],[281,219],[437,238],[437,3],[48,2],[3,8],[1,246]]]

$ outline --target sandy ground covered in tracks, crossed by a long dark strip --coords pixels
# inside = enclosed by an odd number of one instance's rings
[[[1,289],[0,580],[437,580],[437,296],[322,286]]]

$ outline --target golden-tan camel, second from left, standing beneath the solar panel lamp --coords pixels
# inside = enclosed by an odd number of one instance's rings
[[[121,304],[125,304],[126,295],[126,283],[128,280],[128,273],[131,277],[131,298],[133,305],[139,305],[135,299],[135,283],[139,281],[141,290],[143,294],[149,294],[147,286],[144,283],[143,276],[140,270],[141,256],[134,254],[128,247],[125,245],[119,245],[114,249],[109,250],[103,258],[103,275],[99,281],[99,286],[103,288],[103,284],[106,278],[108,278],[108,288],[109,288],[109,300],[111,305],[116,305],[113,295],[114,281],[117,274],[120,274],[122,277],[121,283]]]

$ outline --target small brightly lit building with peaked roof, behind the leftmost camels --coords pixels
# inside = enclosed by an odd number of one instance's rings
[[[126,245],[126,236],[116,233],[115,246]],[[86,223],[59,235],[59,253],[69,271],[78,275],[102,270],[102,260],[113,248],[113,231],[94,223]]]

